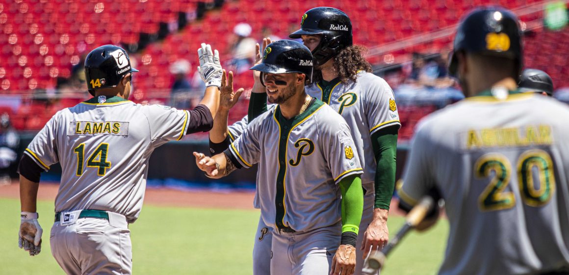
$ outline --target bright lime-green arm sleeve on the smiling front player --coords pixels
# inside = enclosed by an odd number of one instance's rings
[[[360,231],[361,214],[364,211],[364,190],[359,175],[340,180],[342,192],[342,233]]]

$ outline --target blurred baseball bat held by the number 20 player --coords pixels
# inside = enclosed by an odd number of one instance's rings
[[[413,209],[407,214],[405,217],[405,224],[403,227],[399,229],[395,237],[389,240],[389,243],[382,249],[381,251],[373,252],[372,255],[368,257],[368,266],[374,270],[380,270],[382,266],[384,266],[385,258],[391,250],[397,246],[399,241],[407,235],[410,229],[416,227],[421,221],[423,221],[424,217],[427,213],[431,210],[434,206],[434,200],[431,196],[423,196],[423,198],[419,201],[419,203],[413,207]]]

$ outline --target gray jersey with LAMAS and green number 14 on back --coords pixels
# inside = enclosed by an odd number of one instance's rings
[[[26,149],[46,171],[63,169],[55,211],[103,210],[132,223],[142,207],[154,149],[186,132],[189,112],[92,98],[55,114]]]

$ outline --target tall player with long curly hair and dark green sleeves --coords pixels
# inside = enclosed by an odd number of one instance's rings
[[[300,30],[289,35],[302,39],[314,56],[315,73],[308,95],[319,98],[340,113],[350,126],[364,174],[364,214],[358,234],[356,274],[372,249],[381,249],[389,240],[387,215],[395,184],[397,132],[401,127],[394,94],[381,77],[371,73],[371,65],[352,44],[352,23],[343,11],[331,7],[308,10],[301,19]],[[251,93],[252,117],[265,110],[265,90],[257,76]],[[265,226],[259,222],[257,237]],[[263,237],[264,240],[267,238]],[[266,248],[260,248],[262,258]],[[266,257],[266,256],[265,256]]]

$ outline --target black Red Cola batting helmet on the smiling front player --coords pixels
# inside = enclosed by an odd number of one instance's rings
[[[261,64],[251,69],[261,73],[304,73],[312,81],[312,66],[312,54],[306,46],[293,40],[278,40],[267,45]]]

